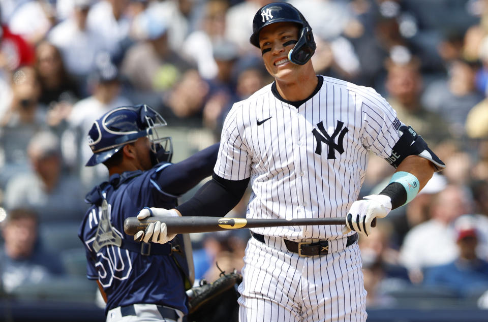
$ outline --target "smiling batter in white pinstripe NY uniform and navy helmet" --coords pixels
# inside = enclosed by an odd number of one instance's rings
[[[250,182],[248,218],[346,216],[344,227],[252,229],[239,315],[241,321],[364,321],[357,233],[368,236],[375,218],[412,200],[445,165],[372,88],[316,75],[312,29],[293,6],[259,9],[250,41],[275,82],[233,105],[212,180],[188,202],[156,212],[224,215]],[[380,194],[357,201],[370,152],[396,172]],[[160,232],[144,238],[153,233]]]

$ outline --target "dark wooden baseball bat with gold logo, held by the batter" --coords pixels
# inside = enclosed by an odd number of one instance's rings
[[[135,235],[144,231],[151,222],[166,223],[168,234],[208,233],[241,228],[311,226],[324,224],[346,224],[346,218],[303,218],[303,219],[246,219],[226,217],[162,217],[151,216],[142,220],[129,217],[124,221],[124,231]]]

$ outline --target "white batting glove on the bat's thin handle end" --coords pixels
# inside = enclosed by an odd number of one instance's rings
[[[391,211],[391,199],[385,195],[366,196],[355,201],[346,217],[344,234],[355,231],[368,236],[371,233],[373,219],[384,218]]]

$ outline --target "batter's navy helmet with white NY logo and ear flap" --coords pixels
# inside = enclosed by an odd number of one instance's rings
[[[317,47],[312,34],[312,27],[303,15],[290,4],[270,3],[258,10],[253,20],[251,44],[259,48],[259,32],[265,26],[276,22],[294,22],[300,25],[299,38],[295,47],[288,53],[288,59],[297,65],[304,65]]]

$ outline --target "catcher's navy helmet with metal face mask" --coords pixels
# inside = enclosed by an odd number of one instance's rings
[[[170,162],[173,147],[170,137],[163,137],[164,118],[149,106],[117,107],[98,118],[88,132],[93,155],[86,166],[105,162],[124,145],[147,137],[151,142],[153,164]]]

